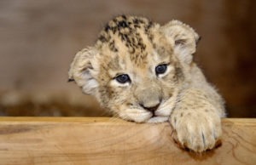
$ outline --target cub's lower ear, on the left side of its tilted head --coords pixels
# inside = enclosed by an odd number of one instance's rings
[[[75,81],[79,87],[83,88],[85,94],[96,94],[98,87],[96,54],[95,48],[84,48],[79,51],[68,71],[68,82]]]

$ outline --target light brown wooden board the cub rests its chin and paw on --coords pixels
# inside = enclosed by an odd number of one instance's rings
[[[167,122],[0,117],[0,164],[256,164],[256,119],[223,119],[222,145],[183,151]]]

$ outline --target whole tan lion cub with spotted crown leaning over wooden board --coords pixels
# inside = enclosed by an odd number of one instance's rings
[[[191,151],[220,138],[224,100],[194,63],[198,34],[178,20],[164,26],[143,17],[110,20],[93,47],[75,55],[68,72],[85,94],[133,122],[172,124]]]

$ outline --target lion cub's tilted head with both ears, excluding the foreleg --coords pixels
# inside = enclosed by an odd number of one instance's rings
[[[198,39],[178,20],[160,26],[121,15],[108,22],[93,47],[75,55],[69,79],[115,116],[163,122],[186,81]]]

